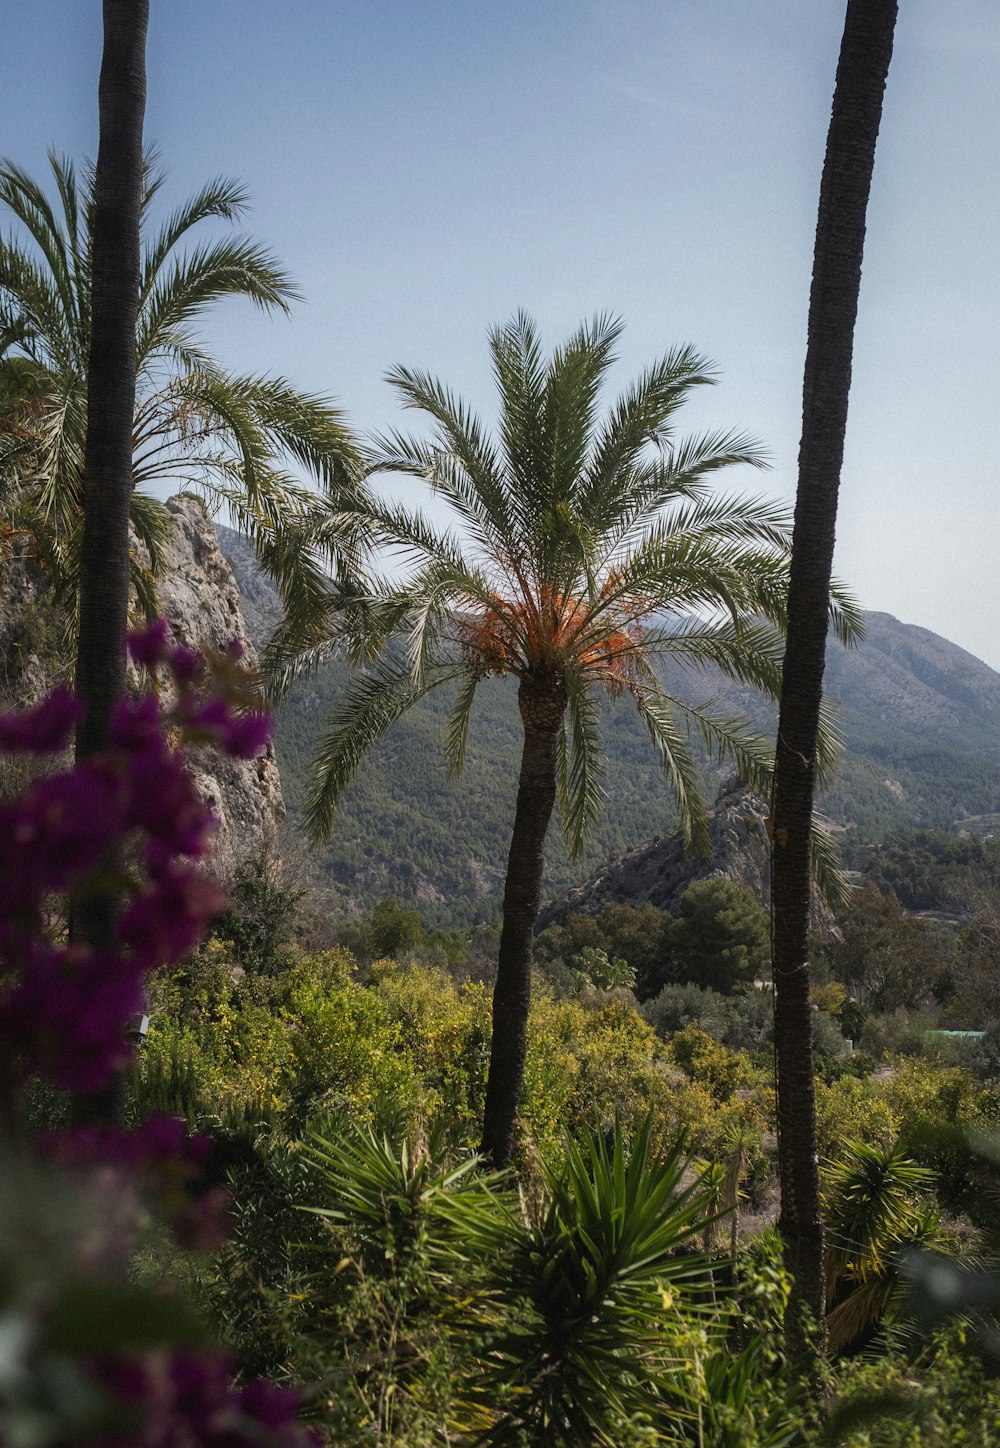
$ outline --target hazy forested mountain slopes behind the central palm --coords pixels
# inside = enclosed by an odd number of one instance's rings
[[[243,595],[247,633],[259,646],[279,617],[274,589],[243,539],[220,529]],[[867,615],[867,639],[831,644],[828,692],[847,750],[821,799],[834,830],[952,828],[1000,811],[1000,675],[965,650],[889,614]],[[289,817],[302,808],[310,757],[331,701],[343,688],[337,665],[300,681],[282,704],[276,749]],[[773,733],[774,714],[751,691],[721,678],[689,676],[692,698],[715,698]],[[450,699],[431,695],[399,721],[362,767],[318,860],[333,902],[366,909],[394,895],[428,919],[469,924],[496,915],[514,818],[520,721],[509,681],[479,692],[460,780],[447,779],[440,738]],[[566,859],[548,841],[548,893],[588,879],[609,856],[666,835],[673,801],[631,701],[606,701],[606,808],[590,847]],[[715,798],[719,773],[706,767]]]

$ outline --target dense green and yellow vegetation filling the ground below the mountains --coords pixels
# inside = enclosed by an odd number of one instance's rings
[[[281,892],[279,876],[269,888]],[[713,902],[693,891],[699,928],[721,959],[757,948],[763,912],[734,891]],[[540,937],[517,1199],[469,1167],[488,1060],[489,950],[382,902],[336,925],[363,966],[344,946],[302,953],[301,921],[288,914],[278,956],[255,966],[243,951],[234,970],[221,933],[237,934],[258,896],[247,889],[214,941],[155,982],[133,1082],[137,1109],[179,1111],[216,1134],[234,1231],[194,1276],[181,1266],[245,1373],[336,1381],[324,1422],[344,1444],[433,1444],[444,1432],[462,1441],[473,1428],[495,1444],[563,1441],[570,1415],[566,1442],[580,1441],[582,1422],[593,1425],[590,1441],[603,1432],[616,1444],[819,1441],[821,1420],[805,1413],[768,1347],[787,1290],[768,1228],[768,992],[753,985],[750,966],[742,980],[702,983],[696,957],[671,950],[679,925],[687,924],[680,943],[690,937],[693,908],[670,921],[651,906],[608,906]],[[964,1134],[1000,1128],[997,1067],[975,1045],[948,1061],[928,1038],[939,957],[928,956],[922,1027],[891,1002],[883,1011],[848,992],[838,964],[858,950],[851,915],[868,908],[865,896],[852,904],[845,946],[828,951],[813,995],[834,1248],[831,1386],[834,1406],[873,1389],[899,1396],[894,1416],[839,1441],[935,1441],[918,1435],[959,1423],[970,1441],[987,1442],[1000,1413],[990,1368],[968,1328],[919,1323],[897,1254],[907,1242],[946,1257],[988,1250],[990,1169]],[[893,918],[916,969],[904,931],[928,930]],[[397,959],[381,957],[385,946]],[[621,979],[595,982],[595,966],[615,963],[632,977],[666,970],[671,982],[640,1008]],[[627,1163],[630,1142],[632,1164],[648,1163],[644,1192],[670,1179],[683,1142],[700,1184],[673,1196],[656,1273],[632,1279],[628,1299],[612,1297],[585,1341],[575,1295],[592,1268],[615,1268],[599,1257],[608,1244],[596,1222],[580,1215],[590,1200],[582,1183],[598,1193],[586,1211],[603,1211],[602,1193],[611,1209],[614,1153]],[[728,1215],[709,1228],[712,1203]],[[149,1277],[179,1270],[152,1242],[142,1261]],[[547,1261],[564,1276],[535,1280]],[[634,1344],[650,1332],[657,1350],[637,1360]],[[535,1341],[548,1357],[533,1358]],[[588,1386],[575,1376],[588,1352],[618,1350],[635,1373],[615,1373],[614,1392],[605,1378]]]

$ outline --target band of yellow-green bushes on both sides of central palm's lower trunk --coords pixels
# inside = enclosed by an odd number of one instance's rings
[[[482,985],[456,986],[436,967],[391,960],[360,983],[344,950],[302,957],[279,977],[242,977],[213,946],[153,983],[151,1016],[137,1085],[146,1105],[289,1131],[323,1112],[376,1127],[440,1119],[454,1140],[478,1141],[491,1037]],[[540,989],[522,1096],[530,1137],[546,1150],[583,1124],[619,1119],[631,1131],[651,1112],[663,1144],[685,1134],[722,1157],[748,1134],[758,1140],[760,1105],[732,1095],[755,1082],[753,1069],[692,1030],[686,1040],[698,1050],[687,1064],[705,1067],[711,1089],[671,1066],[625,999]]]

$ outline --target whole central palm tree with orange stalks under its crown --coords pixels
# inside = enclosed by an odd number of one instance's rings
[[[768,750],[751,731],[671,695],[656,665],[715,666],[777,694],[787,520],[767,501],[712,495],[722,469],[763,466],[755,442],[674,436],[685,400],[713,381],[692,348],[654,363],[598,420],[619,332],[599,317],[544,359],[525,316],[493,330],[498,440],[433,378],[391,372],[404,405],[430,414],[436,434],[378,439],[373,468],[425,481],[457,529],[375,504],[378,536],[412,572],[331,601],[324,628],[289,627],[271,652],[285,681],[344,643],[365,660],[315,756],[315,840],[365,752],[424,694],[456,686],[444,753],[457,772],[478,685],[489,675],[517,682],[524,746],[483,1118],[483,1151],[498,1167],[511,1158],[524,1072],[546,831],[559,794],[575,853],[601,805],[598,692],[631,694],[695,849],[708,849],[708,828],[692,737],[750,780],[768,778]],[[849,633],[851,607],[835,613]]]

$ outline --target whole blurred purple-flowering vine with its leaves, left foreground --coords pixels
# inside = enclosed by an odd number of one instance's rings
[[[124,1027],[142,1009],[149,972],[187,956],[224,905],[204,869],[216,821],[181,746],[253,759],[268,741],[268,720],[247,707],[239,644],[203,657],[158,620],[130,636],[129,652],[166,688],[117,702],[103,754],[0,801],[0,1105],[9,1129],[30,1079],[94,1092],[127,1066]],[[27,711],[0,715],[0,752],[58,756],[78,718],[72,694],[56,689]],[[123,862],[110,882],[109,860]],[[65,915],[71,901],[109,883],[122,901],[110,948],[54,927],[59,899]],[[0,1261],[9,1328],[1,1442],[27,1441],[25,1434],[52,1448],[69,1439],[81,1448],[314,1441],[297,1422],[295,1393],[269,1383],[234,1387],[229,1355],[205,1345],[192,1315],[155,1293],[139,1293],[142,1329],[129,1337],[139,1289],[127,1286],[126,1266],[146,1212],[181,1247],[213,1248],[224,1238],[229,1196],[205,1180],[207,1138],[153,1118],[132,1131],[78,1128],[29,1150],[23,1141],[9,1147],[14,1189],[0,1190],[0,1216],[12,1215],[26,1245],[14,1260],[14,1232],[10,1261]],[[19,1197],[30,1197],[38,1182],[25,1232]]]

